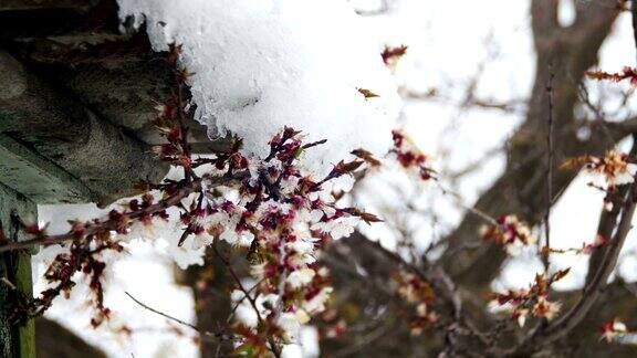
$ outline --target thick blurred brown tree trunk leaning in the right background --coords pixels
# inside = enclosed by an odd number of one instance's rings
[[[618,11],[597,2],[578,3],[579,17],[571,28],[561,28],[556,23],[555,0],[534,0],[532,2],[532,28],[537,52],[536,75],[525,122],[510,140],[508,165],[503,176],[488,189],[476,203],[476,208],[492,217],[503,213],[518,213],[530,224],[542,221],[543,208],[547,202],[546,192],[546,151],[547,108],[545,86],[550,73],[554,73],[554,143],[556,162],[567,157],[588,152],[601,155],[626,133],[613,133],[613,143],[605,136],[593,135],[587,140],[577,137],[578,124],[574,117],[577,102],[577,83],[587,69],[597,61],[597,52],[610,31]],[[585,40],[584,40],[585,39]],[[549,71],[552,63],[552,71]],[[542,144],[542,145],[539,145]],[[552,180],[553,192],[563,192],[574,173],[558,171]],[[556,198],[553,199],[553,202]],[[467,242],[480,240],[477,235],[481,222],[472,215],[466,215],[460,225],[448,236],[449,251]],[[459,255],[443,254],[441,263],[459,284],[480,289],[488,285],[500,271],[504,254],[500,248],[491,245],[474,251],[464,251]],[[470,270],[479,266],[481,270]]]

